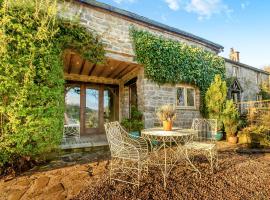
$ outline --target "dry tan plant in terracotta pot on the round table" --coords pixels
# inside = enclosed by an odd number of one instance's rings
[[[157,117],[163,123],[163,129],[165,131],[171,131],[173,120],[175,119],[175,109],[172,105],[163,105],[158,108]]]

